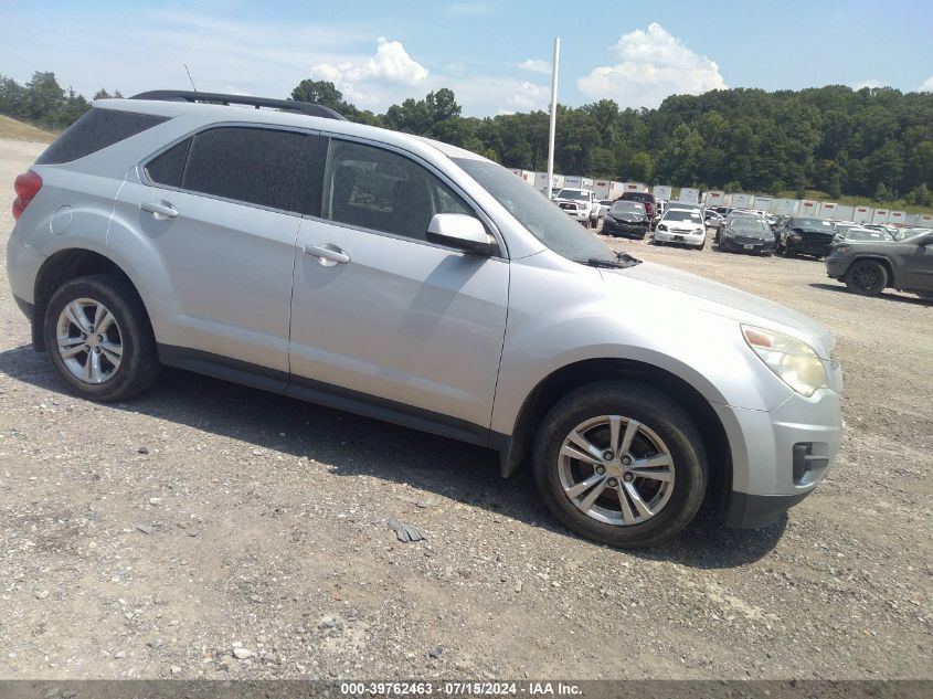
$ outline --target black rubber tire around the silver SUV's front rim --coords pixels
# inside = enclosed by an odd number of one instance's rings
[[[564,491],[559,467],[564,439],[584,421],[600,415],[634,419],[667,446],[674,464],[674,487],[669,500],[654,517],[632,525],[597,521],[581,511]],[[687,412],[666,394],[623,380],[582,386],[551,409],[536,436],[533,470],[544,504],[565,527],[586,539],[619,548],[651,547],[676,537],[699,510],[707,487],[703,441]]]

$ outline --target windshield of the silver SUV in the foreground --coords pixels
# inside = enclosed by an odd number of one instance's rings
[[[568,260],[615,261],[616,254],[537,190],[495,162],[454,158],[541,243]]]

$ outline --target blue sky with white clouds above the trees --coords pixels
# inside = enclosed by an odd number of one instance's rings
[[[0,75],[129,96],[189,89],[187,64],[204,92],[327,80],[379,113],[448,87],[491,116],[548,109],[555,36],[559,102],[637,108],[724,87],[933,91],[931,33],[930,0],[0,0]]]

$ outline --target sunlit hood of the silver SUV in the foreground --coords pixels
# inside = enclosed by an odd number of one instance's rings
[[[655,287],[650,292],[655,296],[669,294],[687,297],[671,300],[690,303],[698,310],[733,318],[739,322],[785,332],[813,346],[823,359],[828,360],[833,350],[833,336],[823,324],[732,286],[651,262],[625,269],[600,272],[609,284],[648,284]]]

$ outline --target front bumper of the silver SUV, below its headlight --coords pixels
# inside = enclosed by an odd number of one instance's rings
[[[730,527],[776,521],[807,497],[839,454],[841,369],[831,368],[833,389],[812,398],[793,393],[772,411],[713,404],[732,456],[732,487],[723,511]]]

